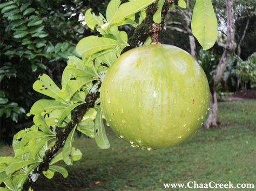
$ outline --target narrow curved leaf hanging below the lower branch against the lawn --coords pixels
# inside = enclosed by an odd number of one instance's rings
[[[66,139],[66,142],[62,151],[63,160],[67,165],[73,165],[72,145],[73,145],[73,137],[74,137],[75,131],[76,131],[76,127],[73,128],[73,130],[69,133],[69,136]]]

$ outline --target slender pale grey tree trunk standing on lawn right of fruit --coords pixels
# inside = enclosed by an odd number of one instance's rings
[[[210,100],[210,111],[207,118],[207,121],[204,123],[204,127],[209,129],[212,126],[218,127],[218,101],[217,101],[217,93],[216,87],[218,83],[221,81],[225,69],[227,67],[228,62],[231,60],[232,55],[235,51],[235,44],[234,41],[234,11],[233,11],[233,0],[226,0],[226,9],[227,9],[227,42],[224,46],[223,54],[219,60],[218,66],[215,69],[214,76],[213,76],[213,84],[211,88],[211,100]]]

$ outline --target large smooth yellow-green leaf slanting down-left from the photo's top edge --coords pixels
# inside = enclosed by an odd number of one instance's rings
[[[116,13],[112,17],[110,24],[121,22],[125,18],[139,12],[140,10],[146,8],[155,1],[156,0],[134,0],[127,3],[123,3],[119,6]]]

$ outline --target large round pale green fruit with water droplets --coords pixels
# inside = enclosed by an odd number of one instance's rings
[[[111,129],[132,146],[179,144],[203,123],[210,91],[203,69],[170,45],[133,48],[111,65],[100,90]]]

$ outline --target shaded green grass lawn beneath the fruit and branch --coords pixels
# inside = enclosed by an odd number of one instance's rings
[[[234,185],[254,183],[256,186],[256,101],[221,102],[219,116],[219,129],[200,129],[185,143],[164,150],[133,148],[113,135],[110,128],[107,128],[111,144],[108,150],[100,150],[94,139],[77,138],[75,146],[82,151],[83,158],[71,167],[66,166],[68,178],[56,174],[49,180],[41,176],[34,188],[167,190],[163,183],[188,181],[231,181]],[[10,147],[1,148],[1,155],[10,153]]]

